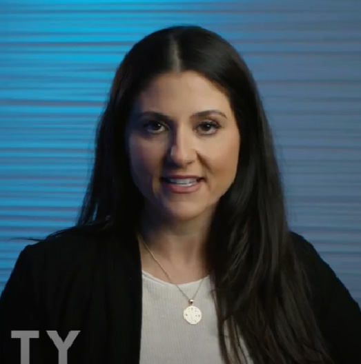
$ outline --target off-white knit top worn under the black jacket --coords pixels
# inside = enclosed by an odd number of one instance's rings
[[[140,364],[223,364],[218,343],[217,316],[207,276],[193,305],[202,320],[191,325],[183,318],[188,302],[177,287],[155,278],[143,277],[142,341]],[[201,280],[179,285],[193,298]],[[248,363],[252,361],[248,359]]]

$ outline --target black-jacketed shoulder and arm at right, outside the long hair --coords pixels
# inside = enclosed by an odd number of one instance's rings
[[[313,245],[295,232],[291,237],[296,259],[309,281],[318,323],[336,363],[360,363],[360,306]]]

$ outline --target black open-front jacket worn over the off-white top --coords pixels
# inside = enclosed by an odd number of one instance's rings
[[[46,330],[64,340],[80,330],[68,349],[68,364],[138,364],[142,319],[142,270],[134,237],[68,232],[27,245],[0,299],[0,363],[20,363],[20,340],[12,330],[37,330],[30,364],[58,363]],[[358,303],[313,246],[292,233],[306,264],[316,317],[335,363],[361,363]],[[168,364],[168,363],[159,363]]]

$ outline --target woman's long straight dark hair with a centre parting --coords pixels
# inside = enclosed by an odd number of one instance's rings
[[[207,241],[224,361],[246,360],[242,337],[255,364],[332,363],[291,244],[262,101],[242,57],[219,35],[196,26],[166,28],[126,54],[97,128],[95,164],[77,228],[99,222],[136,228],[143,199],[126,153],[130,110],[154,77],[186,70],[226,92],[242,137],[237,176],[217,205]]]

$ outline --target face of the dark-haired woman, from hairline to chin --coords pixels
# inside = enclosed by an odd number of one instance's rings
[[[196,72],[154,79],[128,121],[133,181],[168,219],[210,216],[235,179],[240,132],[226,95]]]

